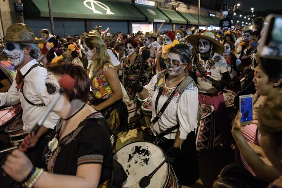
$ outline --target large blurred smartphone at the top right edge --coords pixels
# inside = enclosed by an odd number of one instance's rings
[[[258,54],[263,58],[282,59],[282,15],[270,14],[266,17],[266,30]]]

